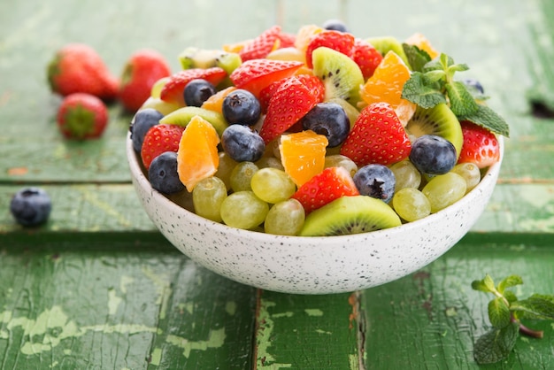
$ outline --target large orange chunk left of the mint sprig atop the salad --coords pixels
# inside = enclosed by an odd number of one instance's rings
[[[410,78],[410,69],[394,51],[389,51],[375,69],[373,76],[360,89],[363,105],[385,102],[396,112],[405,126],[416,110],[416,104],[402,98],[404,83]],[[361,108],[361,107],[360,107]]]

